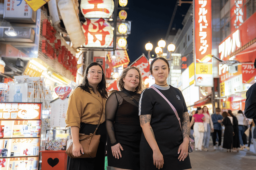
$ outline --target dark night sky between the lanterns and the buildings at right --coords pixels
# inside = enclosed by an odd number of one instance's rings
[[[189,0],[188,0],[189,1]],[[176,0],[128,0],[126,21],[132,21],[131,34],[127,38],[128,56],[131,64],[144,53],[145,44],[153,44],[151,54],[155,55],[155,47],[159,40],[165,39]],[[191,4],[178,6],[172,28],[182,28],[181,24]],[[168,45],[168,44],[167,44]],[[155,55],[156,56],[156,55]]]

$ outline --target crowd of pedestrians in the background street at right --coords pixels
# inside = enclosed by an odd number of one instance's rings
[[[249,150],[252,138],[251,130],[254,129],[252,119],[247,119],[241,110],[236,113],[236,116],[231,110],[222,113],[220,108],[215,110],[216,113],[210,116],[208,108],[203,106],[190,114],[190,137],[195,139],[195,150],[208,151],[210,136],[212,136],[214,150],[223,150],[223,148],[227,149],[227,152]],[[246,129],[248,129],[248,134],[246,134]],[[221,146],[222,140],[223,145]]]

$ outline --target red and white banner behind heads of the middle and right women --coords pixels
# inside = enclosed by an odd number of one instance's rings
[[[137,67],[140,70],[142,80],[144,81],[149,77],[149,62],[147,57],[142,54],[137,60],[135,60],[129,67]]]

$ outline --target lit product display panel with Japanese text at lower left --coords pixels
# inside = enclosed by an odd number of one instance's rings
[[[0,103],[0,169],[37,170],[42,103]]]

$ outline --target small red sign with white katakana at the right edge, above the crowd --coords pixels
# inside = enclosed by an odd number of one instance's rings
[[[243,63],[242,64],[242,75],[243,83],[254,83],[253,80],[256,76],[254,63]]]

